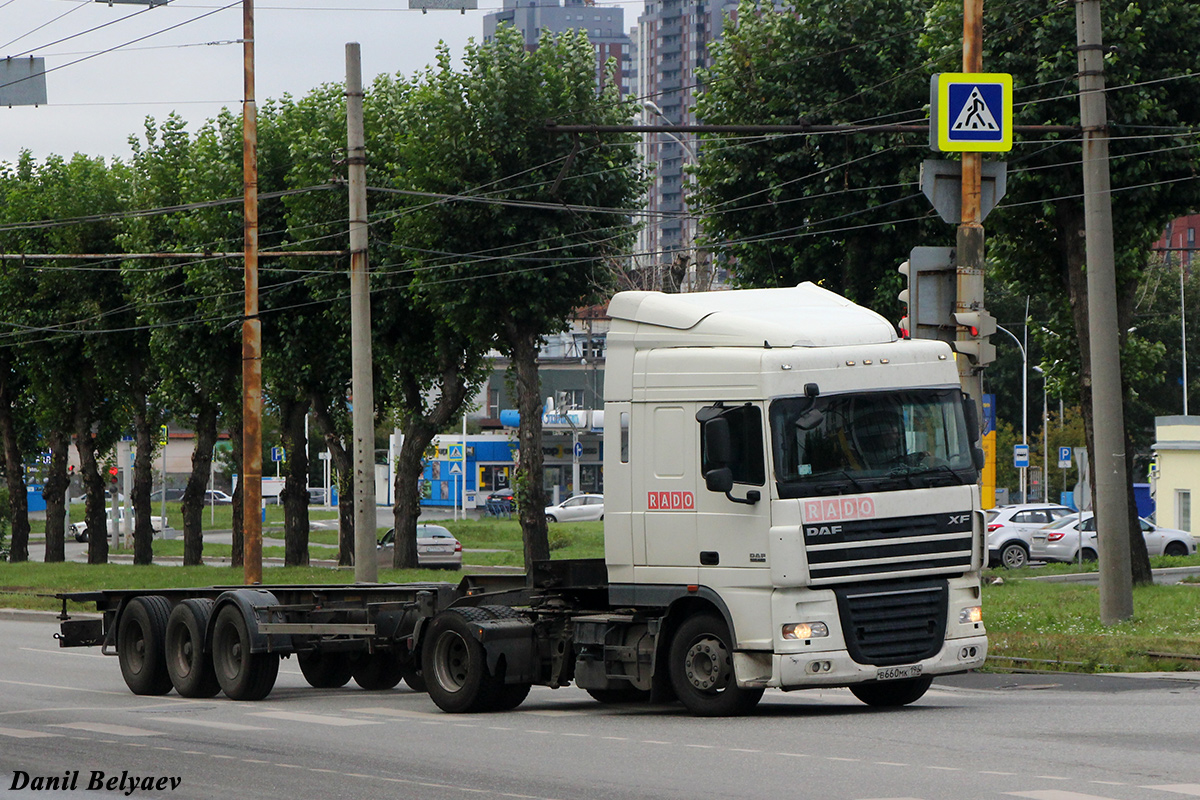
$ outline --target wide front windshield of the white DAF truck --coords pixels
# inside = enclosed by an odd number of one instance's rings
[[[973,482],[961,398],[922,389],[773,401],[780,497]]]

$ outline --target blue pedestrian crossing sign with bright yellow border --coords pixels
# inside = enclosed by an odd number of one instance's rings
[[[943,152],[1013,149],[1013,76],[942,72],[930,80],[930,146]]]

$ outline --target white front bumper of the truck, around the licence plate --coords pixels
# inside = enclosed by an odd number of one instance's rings
[[[864,681],[888,681],[930,675],[950,675],[977,669],[988,657],[985,634],[946,639],[932,657],[904,664],[863,664],[846,650],[775,654],[770,685],[784,691],[815,686],[850,686]],[[740,684],[740,675],[739,681]]]

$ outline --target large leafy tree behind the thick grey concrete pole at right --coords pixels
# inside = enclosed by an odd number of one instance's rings
[[[961,43],[962,5],[936,0],[929,12],[926,46],[942,61]],[[1034,0],[992,4],[988,8],[984,66],[1009,72],[1018,86],[1016,125],[1078,125],[1075,95],[1075,12],[1070,5]],[[1156,348],[1127,336],[1135,291],[1151,243],[1166,222],[1200,207],[1195,162],[1200,156],[1193,130],[1200,125],[1200,97],[1180,91],[1177,82],[1200,70],[1194,44],[1200,18],[1186,5],[1134,0],[1103,6],[1106,46],[1105,82],[1110,120],[1110,169],[1117,266],[1117,325],[1127,397],[1140,374],[1162,357]],[[1084,252],[1082,175],[1078,142],[1045,137],[1019,145],[1009,158],[1008,196],[988,218],[989,259],[997,275],[1031,293],[1058,297],[1058,335],[1045,342],[1050,357],[1079,359],[1079,392],[1088,443],[1103,420],[1092,419],[1091,360],[1087,335],[1087,281]],[[1159,369],[1160,372],[1160,369]],[[1128,402],[1127,402],[1128,405]],[[1132,476],[1133,447],[1127,471]],[[1093,452],[1090,447],[1088,452]],[[1150,560],[1136,521],[1129,486],[1128,535],[1134,583],[1151,581]]]

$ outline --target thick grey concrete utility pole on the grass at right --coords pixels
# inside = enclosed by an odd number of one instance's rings
[[[1092,361],[1092,420],[1096,530],[1099,536],[1100,621],[1133,616],[1133,572],[1126,475],[1124,409],[1117,331],[1116,269],[1112,257],[1112,198],[1109,184],[1108,112],[1104,101],[1104,46],[1100,0],[1075,5],[1079,53],[1079,116],[1084,128],[1084,227],[1087,251],[1087,333]]]

